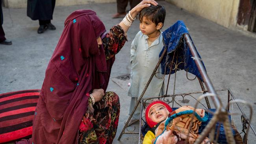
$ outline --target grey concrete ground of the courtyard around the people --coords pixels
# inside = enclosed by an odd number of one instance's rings
[[[190,29],[189,33],[204,61],[208,76],[215,89],[230,88],[236,98],[251,103],[254,109],[252,125],[256,126],[255,37],[229,30],[202,17],[187,13],[167,2],[161,1],[159,3],[165,6],[167,11],[163,30],[177,20],[185,22]],[[107,30],[122,20],[122,18],[111,18],[111,15],[116,12],[115,3],[56,7],[52,20],[56,30],[47,30],[39,35],[37,34],[38,21],[33,21],[27,17],[26,9],[3,8],[3,28],[7,39],[10,39],[13,45],[0,45],[0,94],[16,90],[41,88],[46,66],[63,30],[65,18],[76,9],[93,9],[96,11]],[[111,80],[109,81],[108,90],[116,92],[121,102],[119,128],[113,143],[125,144],[129,142],[134,144],[138,141],[138,135],[123,135],[121,141],[117,141],[124,126],[124,121],[128,118],[130,98],[127,96],[129,80],[123,81],[116,78],[130,73],[130,44],[137,31],[139,31],[139,21],[135,20],[128,31],[128,42],[116,56]],[[189,77],[192,78],[193,76],[189,75]],[[174,78],[174,76],[171,76],[171,78]],[[198,82],[187,81],[184,72],[177,73],[175,93],[199,90]],[[173,84],[171,84],[169,93],[173,93]],[[222,102],[226,103],[226,96],[223,96],[222,99]],[[194,103],[190,104],[194,105]],[[238,113],[239,111],[235,106],[234,111]],[[249,109],[245,105],[241,106],[248,114]],[[235,121],[237,127],[241,128],[239,116]],[[250,140],[255,140],[252,131],[250,133]]]

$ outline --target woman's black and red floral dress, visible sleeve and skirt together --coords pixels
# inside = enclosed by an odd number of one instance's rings
[[[126,41],[121,26],[113,26],[102,39],[106,60],[117,54]],[[120,103],[114,92],[106,92],[100,102],[92,105],[89,98],[88,109],[79,126],[79,144],[111,144],[117,132]]]

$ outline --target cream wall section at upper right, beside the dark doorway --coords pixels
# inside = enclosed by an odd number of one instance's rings
[[[166,0],[224,27],[236,26],[239,0]]]

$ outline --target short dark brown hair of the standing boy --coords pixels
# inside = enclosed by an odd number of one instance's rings
[[[139,13],[139,20],[142,20],[143,17],[147,17],[148,20],[151,20],[158,25],[160,22],[165,22],[165,13],[165,8],[160,4],[157,6],[151,5],[141,10]]]

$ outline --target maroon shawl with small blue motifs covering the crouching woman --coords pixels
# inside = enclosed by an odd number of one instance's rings
[[[103,46],[98,48],[96,42],[105,31],[91,10],[74,11],[65,20],[35,110],[33,144],[78,142],[78,127],[89,93],[93,89],[106,90],[108,85],[106,74],[110,69],[107,70]]]

